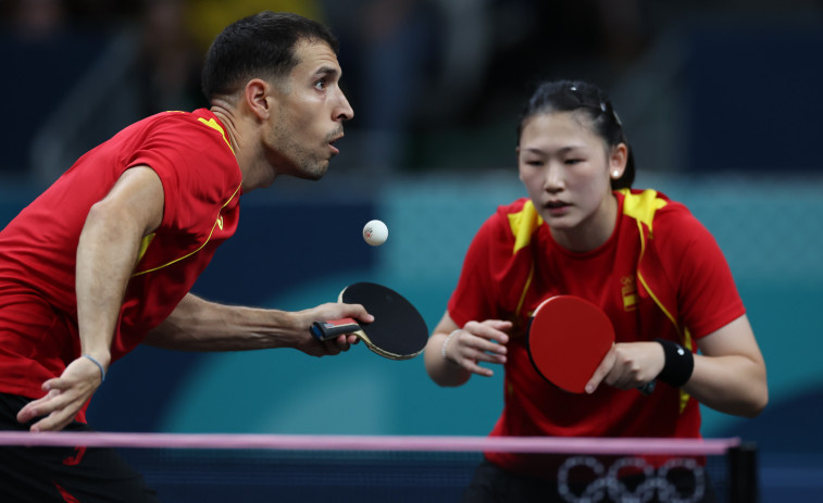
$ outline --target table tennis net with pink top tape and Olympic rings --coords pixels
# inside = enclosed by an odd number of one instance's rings
[[[169,503],[459,502],[484,452],[552,466],[546,501],[746,503],[758,492],[757,449],[739,439],[0,432],[0,449],[54,445],[115,449]]]

